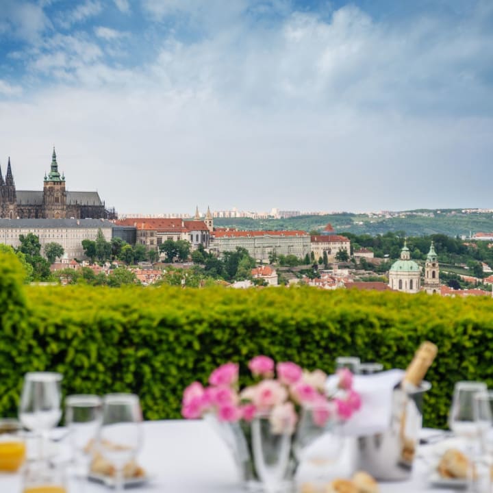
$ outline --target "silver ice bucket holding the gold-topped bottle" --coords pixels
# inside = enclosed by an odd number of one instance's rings
[[[430,388],[431,384],[423,381],[413,392],[393,390],[388,429],[357,439],[359,470],[365,470],[379,481],[409,479],[422,427],[423,395]]]

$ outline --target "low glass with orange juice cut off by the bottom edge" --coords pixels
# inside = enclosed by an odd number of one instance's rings
[[[23,493],[67,493],[65,468],[60,464],[33,462],[23,471]]]

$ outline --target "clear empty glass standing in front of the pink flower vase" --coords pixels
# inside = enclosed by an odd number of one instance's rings
[[[257,416],[251,423],[253,462],[266,493],[279,493],[288,486],[283,478],[290,458],[290,427],[289,418],[273,426],[268,415]]]

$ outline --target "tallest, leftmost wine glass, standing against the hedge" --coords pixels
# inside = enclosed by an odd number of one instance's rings
[[[25,374],[19,420],[22,425],[39,435],[40,459],[45,458],[45,442],[49,431],[62,417],[62,375],[55,372],[29,372]]]

